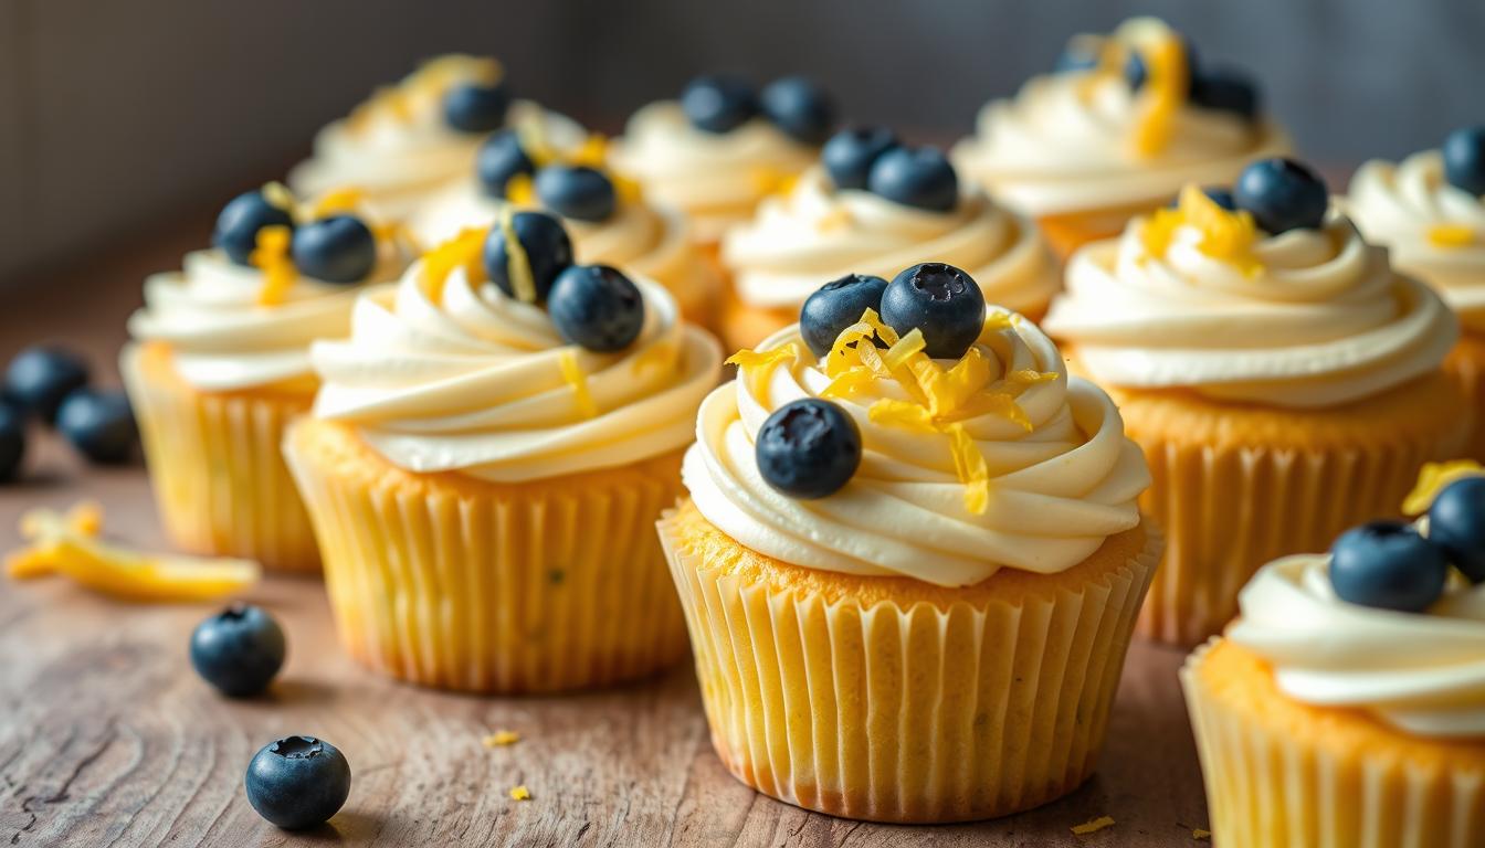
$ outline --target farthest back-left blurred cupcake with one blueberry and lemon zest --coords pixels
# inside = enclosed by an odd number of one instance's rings
[[[512,102],[497,61],[440,56],[321,129],[288,184],[300,195],[359,186],[377,212],[401,220],[468,177],[480,143],[502,126],[536,126],[564,140],[584,134],[564,116]]]

